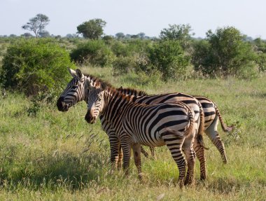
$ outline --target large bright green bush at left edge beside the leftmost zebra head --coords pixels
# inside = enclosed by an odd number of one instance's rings
[[[51,39],[22,39],[8,47],[0,79],[4,88],[36,95],[67,81],[66,67],[74,68],[69,53]]]

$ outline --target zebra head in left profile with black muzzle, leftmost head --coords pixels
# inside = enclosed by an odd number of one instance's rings
[[[69,73],[73,78],[57,100],[57,109],[59,111],[68,111],[71,106],[85,99],[85,76],[80,69],[76,69],[76,71],[69,69]]]

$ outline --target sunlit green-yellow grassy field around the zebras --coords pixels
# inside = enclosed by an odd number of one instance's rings
[[[85,123],[85,103],[67,113],[55,104],[34,106],[27,97],[7,93],[0,99],[0,200],[265,200],[266,199],[266,81],[197,79],[146,86],[136,76],[111,76],[111,69],[83,71],[149,94],[186,92],[204,95],[218,104],[232,134],[219,132],[228,164],[211,141],[207,153],[207,181],[176,185],[178,169],[166,147],[156,148],[156,160],[143,158],[144,181],[112,171],[109,141],[100,127]],[[69,77],[70,79],[70,77]],[[149,82],[148,80],[146,82]],[[36,115],[34,112],[36,111]]]

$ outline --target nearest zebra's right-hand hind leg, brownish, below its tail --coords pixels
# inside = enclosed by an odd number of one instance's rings
[[[193,149],[194,135],[189,136],[183,143],[183,151],[188,162],[188,172],[186,174],[185,185],[194,183],[195,151]]]

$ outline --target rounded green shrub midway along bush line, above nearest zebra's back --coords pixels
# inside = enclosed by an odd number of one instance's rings
[[[162,73],[162,78],[182,78],[190,65],[190,57],[186,55],[179,41],[164,40],[155,43],[148,56],[151,67]]]

